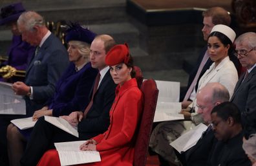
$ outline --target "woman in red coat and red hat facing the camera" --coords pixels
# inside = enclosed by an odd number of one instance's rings
[[[109,129],[80,146],[82,151],[99,151],[101,161],[88,165],[133,165],[136,129],[142,115],[143,96],[133,71],[133,59],[126,44],[114,46],[105,58],[117,86],[116,98],[110,111]],[[45,152],[41,165],[60,165],[58,152]]]

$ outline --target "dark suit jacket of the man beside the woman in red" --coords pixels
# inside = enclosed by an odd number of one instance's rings
[[[107,130],[107,127],[109,127],[109,110],[114,101],[115,89],[116,84],[114,84],[110,72],[107,71],[94,95],[93,104],[87,113],[87,117],[83,118],[78,124],[80,137],[96,136]]]

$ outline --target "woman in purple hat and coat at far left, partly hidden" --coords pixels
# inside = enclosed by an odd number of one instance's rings
[[[25,12],[25,8],[21,3],[14,3],[12,5],[5,6],[1,8],[0,12],[0,25],[6,25],[12,30],[12,43],[8,48],[6,55],[8,60],[1,64],[1,66],[12,66],[17,70],[25,70],[27,64],[34,54],[34,46],[31,46],[21,39],[21,33],[17,28],[17,19],[19,15]],[[10,78],[6,80],[5,78],[0,78],[1,81],[16,82],[23,81],[23,77]]]

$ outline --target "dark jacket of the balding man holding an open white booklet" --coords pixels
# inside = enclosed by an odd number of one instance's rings
[[[197,144],[182,154],[182,159],[185,159],[184,165],[187,166],[206,166],[209,159],[209,153],[217,142],[213,134],[213,130],[209,130]]]

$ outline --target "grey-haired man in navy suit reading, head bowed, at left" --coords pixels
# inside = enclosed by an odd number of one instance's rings
[[[17,26],[22,40],[39,48],[27,67],[25,82],[15,82],[12,86],[16,95],[23,95],[25,98],[25,116],[32,116],[53,95],[56,81],[69,65],[69,59],[66,48],[50,33],[41,15],[36,12],[23,12],[17,20]],[[0,116],[1,151],[6,151],[6,127],[10,120],[25,116]]]

